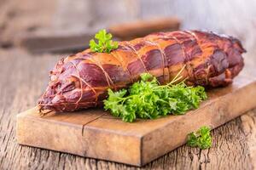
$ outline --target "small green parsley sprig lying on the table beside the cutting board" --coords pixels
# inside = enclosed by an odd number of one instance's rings
[[[212,146],[212,137],[210,127],[201,127],[195,133],[189,133],[187,144],[191,147],[199,147],[205,150]]]

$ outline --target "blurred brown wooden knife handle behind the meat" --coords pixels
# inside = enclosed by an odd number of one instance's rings
[[[121,40],[131,40],[136,37],[144,37],[157,31],[176,31],[179,29],[180,20],[177,18],[160,18],[155,20],[137,20],[134,22],[109,26],[114,37]]]

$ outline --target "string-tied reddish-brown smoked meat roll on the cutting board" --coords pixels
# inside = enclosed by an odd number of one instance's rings
[[[165,84],[184,65],[187,84],[226,86],[241,71],[243,52],[236,38],[206,31],[154,33],[119,42],[110,54],[87,49],[55,65],[38,107],[40,111],[77,111],[102,106],[108,88],[127,88],[143,72]]]

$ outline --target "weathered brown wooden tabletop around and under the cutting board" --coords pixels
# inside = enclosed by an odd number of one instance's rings
[[[0,169],[137,168],[17,144],[15,116],[36,105],[48,82],[48,71],[59,56],[32,56],[20,49],[0,50]],[[255,134],[256,110],[253,110],[213,130],[211,149],[184,145],[142,169],[252,169],[256,161]]]

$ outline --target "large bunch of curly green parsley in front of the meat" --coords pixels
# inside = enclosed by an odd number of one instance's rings
[[[137,118],[155,119],[168,114],[183,115],[198,108],[201,100],[207,99],[207,94],[201,86],[188,87],[184,82],[175,84],[182,78],[180,73],[166,85],[160,85],[155,77],[144,73],[141,81],[133,83],[128,90],[113,92],[108,89],[104,108],[124,122],[134,122]]]

